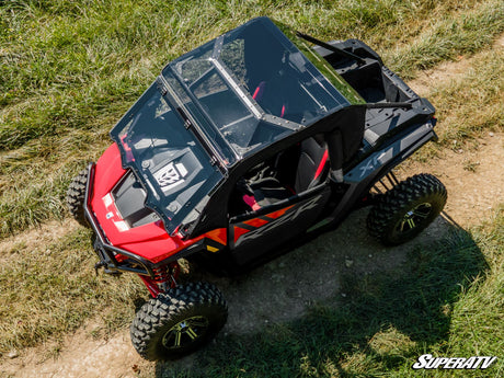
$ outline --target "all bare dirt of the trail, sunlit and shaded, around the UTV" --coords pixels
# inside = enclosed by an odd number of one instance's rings
[[[504,46],[504,37],[494,45]],[[437,83],[457,80],[471,66],[470,59],[446,62],[422,73],[411,87],[428,96],[433,80]],[[492,134],[479,142],[474,151],[457,153],[445,150],[427,164],[410,163],[400,175],[417,172],[436,174],[448,188],[447,215],[468,228],[488,218],[504,197],[504,135]],[[239,278],[213,279],[229,303],[229,319],[222,335],[241,334],[268,323],[299,318],[313,300],[344,297],[341,277],[345,272],[373,274],[393,270],[405,261],[408,251],[417,243],[443,236],[448,222],[439,217],[419,239],[404,245],[385,249],[367,236],[367,209],[352,214],[336,230],[284,255]],[[0,241],[0,251],[8,251],[20,240],[39,242],[49,239],[55,225],[24,232]],[[58,227],[62,227],[59,225]],[[71,227],[76,227],[75,225]],[[314,255],[306,265],[307,254]],[[1,259],[1,256],[0,256]],[[274,303],[275,306],[272,306]],[[128,330],[121,330],[108,340],[91,336],[92,327],[82,328],[60,344],[60,353],[48,357],[56,342],[23,351],[18,358],[0,359],[0,376],[7,377],[137,377],[138,369],[152,371],[154,364],[142,360],[133,350]],[[219,342],[217,340],[217,342]],[[176,363],[191,368],[197,355]]]

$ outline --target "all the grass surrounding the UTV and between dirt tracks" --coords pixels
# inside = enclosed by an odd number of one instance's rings
[[[100,157],[108,130],[167,61],[264,14],[321,39],[360,38],[406,79],[477,57],[462,80],[432,93],[440,140],[424,160],[504,127],[504,57],[491,47],[504,31],[499,0],[0,1],[0,242],[9,245],[0,251],[0,353],[98,316],[110,330],[129,322],[144,289],[135,277],[119,285],[94,276],[87,230],[58,226],[49,244],[26,243],[22,232],[70,221],[71,177]],[[424,352],[499,355],[503,227],[501,209],[484,227],[419,247],[413,266],[348,277],[343,307],[317,303],[296,322],[221,339],[195,371],[152,369],[167,377],[400,377]]]

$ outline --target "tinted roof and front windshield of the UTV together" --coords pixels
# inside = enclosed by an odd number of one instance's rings
[[[298,39],[254,19],[167,65],[111,131],[170,234],[194,236],[224,219],[213,197],[245,160],[364,102],[335,71],[322,75],[329,65]]]

